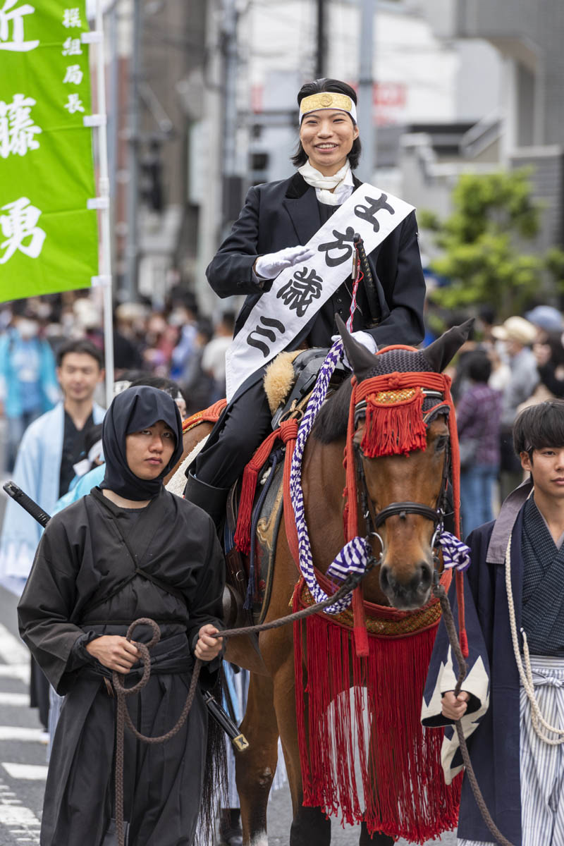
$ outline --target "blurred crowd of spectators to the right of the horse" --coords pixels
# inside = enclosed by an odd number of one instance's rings
[[[523,481],[512,426],[528,405],[564,397],[564,320],[550,305],[496,321],[479,311],[452,369],[461,449],[463,533],[494,519]],[[457,321],[452,321],[453,325]]]

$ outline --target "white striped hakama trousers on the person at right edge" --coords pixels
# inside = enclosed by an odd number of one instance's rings
[[[531,670],[541,711],[550,725],[564,728],[564,659],[532,655]],[[534,732],[531,707],[523,687],[520,717],[522,846],[562,846],[564,747],[545,744]],[[491,841],[464,838],[458,838],[457,844],[495,846]]]

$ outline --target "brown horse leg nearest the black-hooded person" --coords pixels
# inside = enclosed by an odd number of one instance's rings
[[[266,846],[266,805],[277,768],[278,727],[272,680],[250,673],[249,696],[241,732],[249,749],[235,755],[244,846]]]

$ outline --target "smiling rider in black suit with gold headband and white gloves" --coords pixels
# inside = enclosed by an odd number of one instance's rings
[[[353,89],[339,80],[315,80],[298,91],[299,144],[293,157],[297,173],[249,190],[232,232],[207,268],[208,281],[220,297],[247,294],[235,335],[244,328],[249,330],[249,315],[280,272],[287,267],[298,269],[308,261],[313,251],[302,244],[307,244],[362,184],[353,174],[360,155],[356,102]],[[386,195],[382,198],[386,202]],[[358,218],[352,207],[347,222],[353,233]],[[379,223],[374,222],[374,227]],[[348,248],[350,255],[352,246],[348,244]],[[281,350],[330,347],[337,331],[336,312],[344,320],[349,318],[354,338],[371,352],[377,346],[422,340],[425,288],[414,211],[397,223],[368,259],[375,282],[372,296],[362,284],[354,292],[350,280],[345,280],[324,302],[318,297],[316,303],[323,305],[315,314],[315,304],[311,304],[309,319],[287,338]],[[274,305],[279,302],[275,300]],[[277,310],[265,316],[267,327],[276,327]],[[271,329],[262,332],[264,337]],[[228,397],[227,409],[189,475],[185,497],[204,508],[216,523],[222,519],[229,487],[271,431],[263,373],[260,366],[250,371],[233,398]]]

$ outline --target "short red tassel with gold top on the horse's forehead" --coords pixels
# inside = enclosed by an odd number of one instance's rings
[[[413,453],[427,445],[423,419],[424,393],[420,387],[371,393],[366,398],[366,422],[360,448],[367,459],[381,455]],[[392,398],[392,402],[390,399]]]

